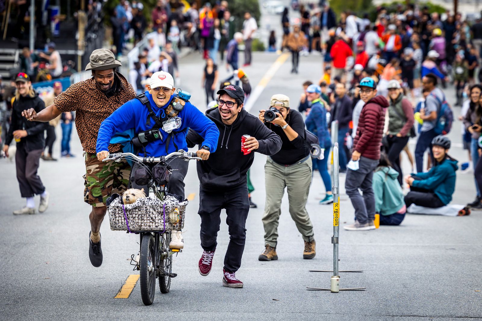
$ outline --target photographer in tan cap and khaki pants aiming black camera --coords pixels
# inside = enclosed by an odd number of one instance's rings
[[[266,248],[258,259],[278,259],[278,222],[285,188],[288,190],[291,217],[305,241],[303,259],[312,259],[316,254],[315,240],[313,225],[306,210],[312,164],[309,149],[305,145],[305,124],[301,114],[290,109],[287,96],[273,95],[269,105],[268,111],[259,111],[259,120],[281,137],[282,145],[279,152],[268,157],[265,165],[266,206],[263,225]]]

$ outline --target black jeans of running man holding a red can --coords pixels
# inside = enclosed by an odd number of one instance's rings
[[[201,216],[201,247],[205,251],[216,248],[217,232],[221,225],[221,209],[226,209],[226,223],[229,231],[229,245],[224,257],[224,269],[231,273],[241,266],[246,241],[246,219],[248,218],[248,186],[229,191],[207,192],[199,190],[199,211]]]

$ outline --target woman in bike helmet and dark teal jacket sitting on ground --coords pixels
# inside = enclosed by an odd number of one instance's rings
[[[405,196],[407,208],[412,204],[439,208],[452,200],[458,166],[457,160],[448,155],[450,139],[439,135],[431,143],[434,166],[427,173],[413,173],[405,177],[405,183],[410,185],[410,192]]]

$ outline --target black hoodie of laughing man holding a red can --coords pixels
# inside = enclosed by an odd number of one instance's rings
[[[273,155],[281,149],[280,136],[268,129],[258,118],[244,109],[232,125],[226,125],[221,120],[218,107],[206,111],[219,129],[219,140],[215,153],[208,160],[197,162],[198,177],[203,191],[230,190],[247,184],[246,173],[253,164],[254,151]],[[259,148],[243,155],[241,152],[241,136],[250,135],[259,142]],[[186,136],[187,146],[201,144],[203,138],[189,129]]]

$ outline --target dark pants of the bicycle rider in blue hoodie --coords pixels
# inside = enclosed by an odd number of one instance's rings
[[[180,158],[174,158],[171,160],[167,160],[167,163],[172,167],[171,177],[169,177],[169,183],[167,184],[168,193],[175,194],[177,196],[185,198],[184,196],[184,178],[187,174],[187,167],[189,162]],[[149,188],[147,185],[137,185],[135,184],[134,174],[137,168],[141,167],[141,165],[134,163],[132,166],[131,171],[131,188],[144,188],[144,192],[146,196],[149,196]]]

